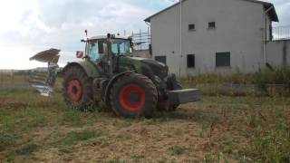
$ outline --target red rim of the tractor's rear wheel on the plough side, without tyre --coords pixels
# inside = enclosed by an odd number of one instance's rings
[[[67,84],[67,95],[73,102],[81,101],[82,99],[82,83],[73,79]]]

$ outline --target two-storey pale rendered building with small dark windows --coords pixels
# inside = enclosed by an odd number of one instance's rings
[[[270,3],[183,0],[181,54],[179,13],[177,3],[145,20],[150,23],[152,57],[166,62],[170,72],[256,72],[277,58],[266,53],[266,44],[272,40],[272,22],[278,22]]]

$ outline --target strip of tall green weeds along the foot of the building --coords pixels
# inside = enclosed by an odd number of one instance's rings
[[[204,73],[181,78],[184,87],[197,87],[207,95],[290,95],[290,66],[265,68],[256,73]],[[231,88],[231,84],[236,85]],[[239,85],[242,86],[239,88]],[[257,88],[253,89],[255,86]]]

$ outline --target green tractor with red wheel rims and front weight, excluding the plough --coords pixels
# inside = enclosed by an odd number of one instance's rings
[[[77,53],[82,61],[63,68],[63,99],[70,107],[93,110],[102,104],[118,116],[132,118],[198,101],[198,90],[182,90],[167,65],[133,57],[131,38],[107,34],[82,43],[85,52]]]

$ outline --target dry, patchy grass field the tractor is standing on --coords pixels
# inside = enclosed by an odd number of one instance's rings
[[[205,96],[152,119],[0,92],[0,162],[290,162],[290,99]]]

